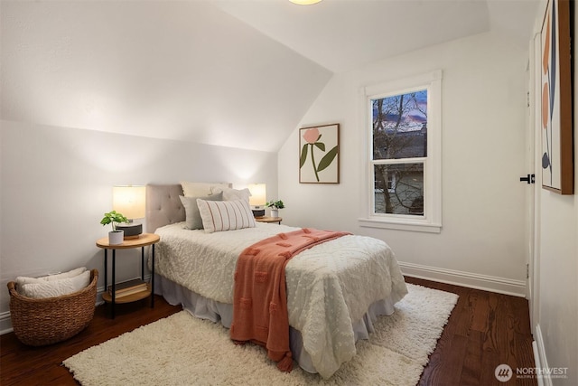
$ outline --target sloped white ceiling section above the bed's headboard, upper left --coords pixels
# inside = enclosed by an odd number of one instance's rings
[[[0,116],[276,152],[331,71],[215,1],[0,2]]]

